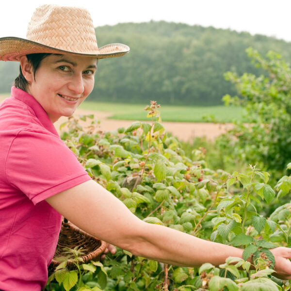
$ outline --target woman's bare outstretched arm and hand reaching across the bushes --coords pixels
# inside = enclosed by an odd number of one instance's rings
[[[242,249],[209,242],[169,227],[148,224],[132,214],[113,194],[95,181],[53,195],[46,201],[69,221],[91,235],[137,256],[164,263],[197,267],[242,258]],[[275,248],[275,269],[291,278],[291,249]]]

